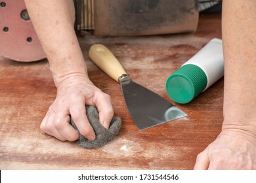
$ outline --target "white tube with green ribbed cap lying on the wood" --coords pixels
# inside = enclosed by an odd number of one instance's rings
[[[177,103],[189,103],[224,75],[223,44],[212,39],[166,82],[166,90]]]

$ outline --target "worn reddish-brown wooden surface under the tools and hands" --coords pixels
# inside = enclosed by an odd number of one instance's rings
[[[0,57],[0,169],[192,169],[198,153],[215,140],[223,122],[223,78],[186,105],[186,118],[139,131],[121,88],[88,58],[105,44],[131,78],[174,103],[167,77],[208,41],[221,38],[221,14],[201,15],[198,31],[147,37],[79,37],[91,80],[112,97],[123,124],[114,141],[87,150],[44,134],[39,125],[56,88],[47,60],[19,63]]]

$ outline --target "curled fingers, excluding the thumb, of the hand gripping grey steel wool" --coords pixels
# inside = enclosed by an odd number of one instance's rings
[[[70,125],[71,115],[81,135],[93,141],[95,132],[89,124],[83,103],[82,100],[74,99],[70,104],[70,109],[64,106],[49,108],[49,112],[41,123],[41,130],[60,141],[76,141],[79,139],[79,133]],[[57,108],[56,112],[52,108]]]

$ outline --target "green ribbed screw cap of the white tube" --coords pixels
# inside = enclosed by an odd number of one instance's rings
[[[189,103],[207,86],[207,76],[193,64],[183,65],[166,82],[166,90],[177,103]]]

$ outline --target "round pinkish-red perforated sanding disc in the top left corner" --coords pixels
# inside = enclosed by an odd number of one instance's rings
[[[45,58],[22,0],[0,1],[0,54],[16,61]]]

